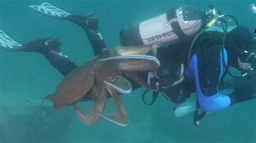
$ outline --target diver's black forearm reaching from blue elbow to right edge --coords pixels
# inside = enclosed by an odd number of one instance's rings
[[[231,98],[231,105],[256,98],[256,89],[252,87],[239,87],[228,95]]]

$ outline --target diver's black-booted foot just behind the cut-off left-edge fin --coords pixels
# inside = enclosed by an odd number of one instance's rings
[[[59,53],[60,45],[61,45],[61,43],[59,42],[58,38],[49,37],[49,38],[45,38],[45,39],[33,40],[31,42],[23,44],[21,51],[37,52],[37,53],[44,54],[45,52],[53,50],[53,51]]]

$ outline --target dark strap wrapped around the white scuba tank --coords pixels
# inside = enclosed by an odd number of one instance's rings
[[[183,30],[181,29],[181,27],[179,25],[176,9],[177,8],[173,8],[173,9],[167,11],[166,19],[168,22],[170,22],[173,32],[176,33],[176,35],[181,39],[181,38],[186,37],[186,34],[183,32]]]

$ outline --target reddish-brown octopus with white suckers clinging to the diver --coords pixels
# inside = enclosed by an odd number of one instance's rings
[[[98,56],[66,75],[55,93],[44,99],[50,99],[57,110],[72,106],[87,125],[96,124],[102,117],[117,125],[127,126],[129,119],[119,95],[132,91],[132,84],[127,78],[147,87],[138,71],[154,71],[160,66],[155,56],[148,55],[152,49],[152,46],[103,49]],[[83,101],[85,94],[91,96],[93,107],[83,112],[77,103]],[[103,113],[108,95],[112,97],[116,110],[112,114]]]

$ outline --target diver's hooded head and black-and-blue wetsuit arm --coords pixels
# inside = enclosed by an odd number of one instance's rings
[[[242,63],[240,54],[243,51],[255,51],[253,34],[246,27],[239,26],[229,32],[226,41],[225,63],[223,63],[223,56],[221,55],[221,46],[217,44],[198,49],[191,59],[191,74],[196,82],[200,108],[204,112],[221,110],[235,103],[255,98],[255,95],[251,94],[252,92],[255,93],[255,91],[242,88],[235,89],[230,95],[219,94],[220,80],[226,74],[224,64],[244,70],[250,66],[250,63]],[[191,76],[189,72],[186,72],[186,75]],[[241,90],[244,93],[239,95]]]

